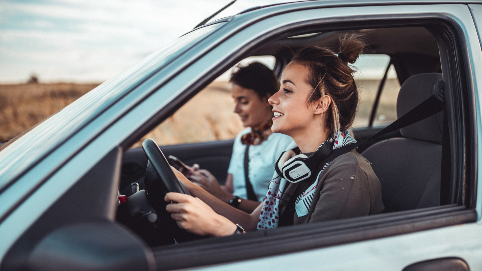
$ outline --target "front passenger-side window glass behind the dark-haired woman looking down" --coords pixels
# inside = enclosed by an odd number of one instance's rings
[[[252,62],[261,62],[273,69],[276,59],[271,55],[250,56],[238,64],[247,66]],[[147,138],[154,139],[159,145],[175,145],[236,137],[245,127],[233,111],[235,103],[229,92],[233,68],[216,78],[131,148],[140,147]]]

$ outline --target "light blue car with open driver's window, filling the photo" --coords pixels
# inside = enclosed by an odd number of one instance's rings
[[[0,270],[482,270],[480,28],[475,0],[302,1],[196,27],[0,147]],[[392,64],[399,117],[437,87],[445,96],[443,112],[358,149],[380,179],[384,213],[162,245],[146,155],[129,147],[240,60],[272,55],[280,75],[290,50],[333,47],[346,30],[367,32],[370,54],[390,59],[357,140],[388,124],[377,110]],[[221,180],[232,144],[161,150]],[[118,196],[133,182],[137,209],[122,214]]]

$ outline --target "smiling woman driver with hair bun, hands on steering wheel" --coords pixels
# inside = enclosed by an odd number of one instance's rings
[[[221,202],[174,170],[192,195],[165,195],[164,200],[171,202],[166,210],[178,226],[198,235],[227,236],[240,231],[236,224],[245,230],[264,230],[380,213],[384,208],[380,182],[361,154],[353,149],[333,161],[320,158],[321,151],[356,142],[347,131],[358,104],[354,71],[348,63],[356,61],[363,47],[359,34],[345,34],[340,36],[337,55],[310,46],[296,52],[286,66],[280,90],[269,98],[274,112],[271,129],[293,137],[296,146],[281,155],[263,203],[251,214]],[[280,176],[280,167],[291,164],[294,156],[320,158],[316,167],[309,168],[311,185],[308,179],[293,182]]]

